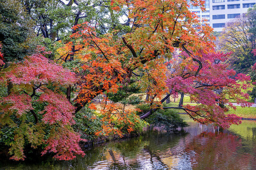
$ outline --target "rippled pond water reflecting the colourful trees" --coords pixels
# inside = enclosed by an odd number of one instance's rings
[[[223,133],[188,123],[183,133],[143,132],[73,161],[0,163],[0,170],[256,170],[256,121],[244,120]]]

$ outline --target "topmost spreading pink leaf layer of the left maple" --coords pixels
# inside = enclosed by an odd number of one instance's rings
[[[58,83],[59,85],[72,85],[76,82],[74,73],[52,63],[41,53],[26,57],[23,62],[14,64],[5,74],[15,84],[45,84]]]

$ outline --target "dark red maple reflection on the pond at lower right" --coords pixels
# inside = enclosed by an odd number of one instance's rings
[[[193,170],[247,169],[253,156],[238,152],[241,139],[228,133],[203,132],[188,143],[186,150],[194,151],[191,157]]]

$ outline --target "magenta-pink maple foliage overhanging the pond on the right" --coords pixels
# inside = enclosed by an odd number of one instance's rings
[[[230,99],[244,107],[250,106],[250,103],[245,101],[249,97],[248,94],[242,92],[242,89],[250,86],[250,76],[228,70],[228,64],[224,62],[227,55],[201,54],[196,58],[202,64],[197,75],[191,76],[198,67],[183,65],[180,68],[180,65],[177,65],[175,72],[169,73],[171,78],[167,79],[167,86],[172,89],[172,93],[183,92],[195,101],[196,106],[183,106],[190,116],[198,122],[215,123],[224,128],[240,123],[240,117],[225,114],[228,106],[235,108],[229,102]],[[224,106],[225,104],[227,105]]]

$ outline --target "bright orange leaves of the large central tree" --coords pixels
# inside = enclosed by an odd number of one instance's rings
[[[120,35],[118,31],[108,30],[106,34],[98,34],[91,23],[83,23],[73,27],[72,42],[64,47],[63,51],[67,52],[63,57],[70,54],[83,62],[82,71],[77,74],[80,80],[76,101],[84,105],[98,94],[115,93],[129,81],[133,71],[139,70],[143,76],[138,85],[147,90],[151,96],[147,102],[154,108],[169,91],[166,59],[172,59],[175,48],[182,51],[186,47],[199,57],[201,52],[213,51],[212,28],[193,17],[186,0],[119,0],[111,4],[116,12],[119,8],[129,9],[130,32]],[[72,49],[76,52],[71,52]],[[183,64],[192,69],[197,63],[187,59]]]

